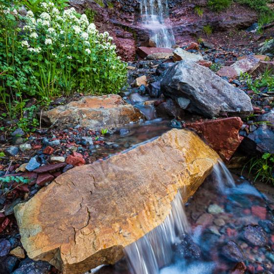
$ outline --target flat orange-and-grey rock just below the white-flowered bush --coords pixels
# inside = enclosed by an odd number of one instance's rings
[[[117,94],[85,96],[43,113],[47,124],[59,128],[80,125],[93,130],[121,127],[143,119],[143,114]]]

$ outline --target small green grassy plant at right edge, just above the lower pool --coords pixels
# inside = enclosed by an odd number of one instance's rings
[[[261,157],[252,158],[249,163],[249,175],[254,174],[266,183],[274,183],[274,154],[265,153]]]

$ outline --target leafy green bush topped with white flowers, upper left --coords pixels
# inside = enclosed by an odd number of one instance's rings
[[[25,23],[23,30],[19,21]],[[25,98],[34,95],[49,102],[74,91],[119,92],[126,65],[112,39],[74,8],[60,11],[52,2],[43,2],[41,12],[28,11],[22,17],[0,0],[1,103],[10,111],[12,102],[23,107]]]

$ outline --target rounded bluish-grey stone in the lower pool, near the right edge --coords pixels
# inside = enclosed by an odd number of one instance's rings
[[[259,226],[246,226],[243,232],[243,239],[253,246],[262,247],[267,242],[267,236],[263,228]]]

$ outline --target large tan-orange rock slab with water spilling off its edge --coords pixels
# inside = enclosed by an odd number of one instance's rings
[[[195,193],[217,159],[193,132],[173,129],[75,167],[15,207],[23,247],[63,274],[114,264],[124,247],[164,221],[180,188],[184,201]]]

